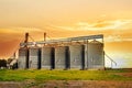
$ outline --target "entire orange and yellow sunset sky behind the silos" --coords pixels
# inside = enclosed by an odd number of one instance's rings
[[[51,38],[105,34],[114,67],[132,67],[132,0],[0,0],[0,58],[12,56],[25,32],[35,41],[43,32]]]

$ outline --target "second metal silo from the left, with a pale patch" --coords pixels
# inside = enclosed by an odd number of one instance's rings
[[[29,48],[29,68],[30,69],[41,68],[41,48],[40,47]]]

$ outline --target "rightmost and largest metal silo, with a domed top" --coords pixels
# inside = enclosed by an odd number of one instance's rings
[[[103,69],[103,43],[92,41],[88,43],[88,68],[89,69]]]

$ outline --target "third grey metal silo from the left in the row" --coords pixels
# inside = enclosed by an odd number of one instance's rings
[[[42,47],[42,61],[41,68],[53,69],[54,68],[54,47]]]

